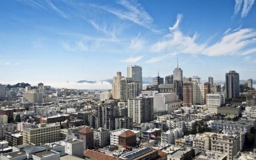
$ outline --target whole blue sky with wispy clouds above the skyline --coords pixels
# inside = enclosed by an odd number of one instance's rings
[[[0,2],[0,83],[143,76],[256,79],[254,0]]]

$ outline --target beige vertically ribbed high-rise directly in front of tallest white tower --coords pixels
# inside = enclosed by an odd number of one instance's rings
[[[139,90],[141,90],[140,81],[122,77],[120,80],[120,101],[127,101],[128,98],[135,98],[138,96]]]

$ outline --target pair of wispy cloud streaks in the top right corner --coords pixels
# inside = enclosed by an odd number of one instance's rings
[[[234,15],[237,15],[242,8],[241,17],[246,17],[252,9],[253,4],[254,0],[235,0]]]

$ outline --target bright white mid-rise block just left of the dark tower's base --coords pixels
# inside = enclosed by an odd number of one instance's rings
[[[217,113],[217,107],[225,103],[225,95],[221,93],[207,94],[206,106],[210,113]]]

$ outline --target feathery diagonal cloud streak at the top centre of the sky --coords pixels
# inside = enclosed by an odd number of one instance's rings
[[[122,20],[129,20],[131,22],[134,22],[135,24],[148,28],[153,32],[159,32],[153,23],[154,19],[152,18],[152,16],[150,16],[150,14],[148,14],[148,12],[146,12],[141,4],[136,1],[128,0],[120,0],[116,1],[116,3],[122,6],[122,9],[110,6],[100,6],[96,4],[92,4],[91,6],[101,8],[107,12],[114,14]]]

